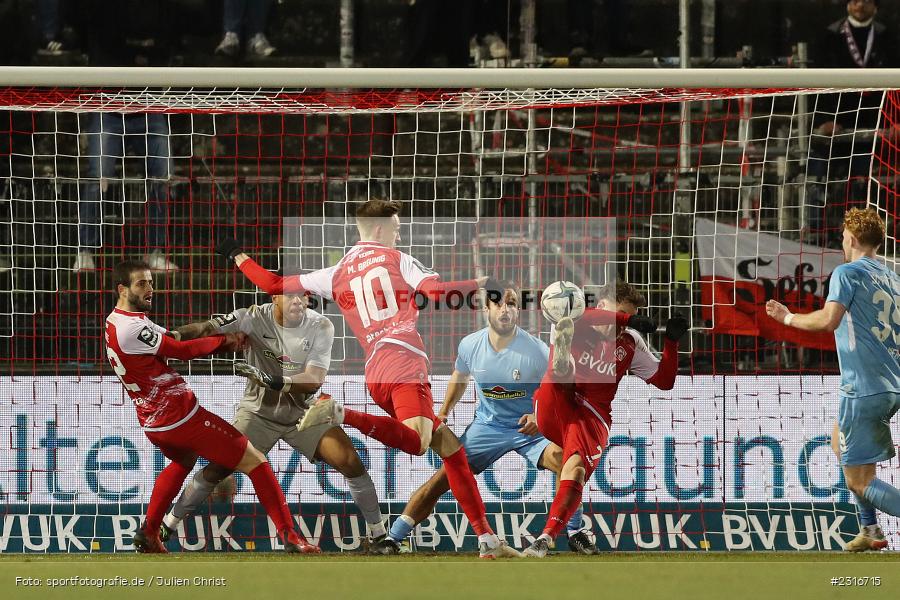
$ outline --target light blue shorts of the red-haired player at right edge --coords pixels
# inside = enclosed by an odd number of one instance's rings
[[[900,394],[895,392],[862,398],[841,396],[841,464],[870,465],[893,458],[896,452],[890,422],[898,408]]]

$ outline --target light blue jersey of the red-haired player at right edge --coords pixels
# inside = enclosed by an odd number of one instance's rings
[[[827,302],[847,310],[834,333],[840,395],[900,392],[900,277],[865,257],[831,274]]]

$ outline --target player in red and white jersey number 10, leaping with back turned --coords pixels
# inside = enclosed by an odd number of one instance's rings
[[[474,294],[493,283],[487,277],[441,282],[438,274],[396,249],[399,202],[369,200],[356,211],[360,240],[333,267],[279,277],[228,239],[216,251],[234,259],[269,294],[312,292],[334,299],[366,354],[366,386],[383,417],[345,409],[328,399],[310,408],[299,428],[344,423],[387,446],[413,455],[430,447],[444,460],[450,489],[478,535],[482,558],[521,556],[501,542],[487,522],[484,502],[459,439],[434,415],[429,363],[416,329],[423,298],[443,302],[449,295]],[[499,285],[489,285],[499,297]],[[496,289],[495,289],[496,288]],[[448,302],[449,304],[449,302]]]

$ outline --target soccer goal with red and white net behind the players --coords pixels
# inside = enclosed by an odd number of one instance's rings
[[[885,85],[900,78],[0,70],[0,552],[131,550],[166,464],[104,355],[117,262],[149,260],[154,321],[203,321],[269,302],[213,254],[217,239],[239,238],[272,270],[331,266],[358,239],[353,204],[370,198],[403,202],[400,248],[445,280],[494,275],[525,298],[558,279],[619,278],[661,322],[688,317],[674,389],[626,376],[613,403],[584,488],[601,549],[841,549],[858,523],[829,445],[833,340],[775,324],[764,303],[822,305],[851,207],[884,218],[881,254],[896,264],[900,92]],[[336,331],[323,389],[380,413],[338,307],[317,310]],[[533,301],[519,325],[548,341]],[[436,409],[459,341],[484,326],[478,311],[421,315]],[[234,360],[176,366],[226,419],[245,382]],[[475,409],[470,383],[457,434]],[[440,465],[348,433],[392,518]],[[339,473],[284,442],[269,460],[310,540],[360,547]],[[896,467],[880,476],[898,485]],[[540,533],[552,473],[513,452],[478,482],[501,537],[521,548]],[[883,526],[900,544],[900,522]],[[449,494],[412,536],[417,550],[474,545]],[[240,476],[170,542],[277,546]]]

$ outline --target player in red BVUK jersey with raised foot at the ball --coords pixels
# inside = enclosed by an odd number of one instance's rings
[[[646,304],[640,292],[620,281],[600,297],[600,307],[585,310],[577,322],[566,317],[556,324],[550,365],[534,394],[538,429],[563,449],[563,467],[547,524],[525,549],[526,556],[546,556],[581,502],[584,482],[609,441],[612,401],[626,371],[662,390],[675,384],[678,340],[687,321],[668,320],[662,360],[657,360],[640,335],[656,331],[652,319],[637,314]]]

